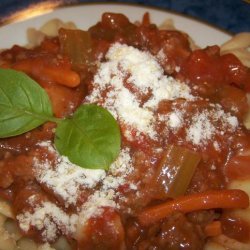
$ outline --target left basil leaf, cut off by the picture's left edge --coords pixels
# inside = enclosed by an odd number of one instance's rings
[[[22,72],[0,69],[0,138],[32,130],[53,120],[45,90]]]

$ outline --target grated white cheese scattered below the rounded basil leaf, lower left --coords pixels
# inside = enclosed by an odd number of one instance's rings
[[[34,158],[37,181],[60,195],[65,201],[65,207],[76,204],[81,186],[94,188],[100,182],[101,185],[78,209],[77,214],[73,215],[68,215],[51,202],[42,202],[37,205],[36,197],[31,196],[29,203],[34,211],[26,211],[17,216],[23,231],[27,232],[33,226],[42,232],[45,241],[53,241],[58,229],[74,234],[79,223],[82,226],[91,217],[100,216],[104,207],[119,209],[119,204],[115,200],[121,194],[117,189],[127,183],[126,177],[133,172],[129,148],[121,150],[117,160],[110,166],[110,171],[106,173],[104,170],[80,168],[71,163],[67,157],[60,156],[48,141],[40,142],[38,146],[45,147],[54,153],[56,165],[54,166],[48,160],[39,161]],[[135,184],[129,184],[133,190],[137,189]]]

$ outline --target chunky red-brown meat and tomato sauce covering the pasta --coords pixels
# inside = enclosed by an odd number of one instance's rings
[[[182,110],[184,125],[169,131],[166,123],[159,121],[156,125],[157,134],[161,135],[159,140],[143,133],[140,137],[143,139],[138,139],[136,129],[129,130],[132,139],[128,139],[125,136],[127,125],[120,122],[122,147],[130,149],[134,167],[126,181],[137,183],[137,195],[129,185],[119,186],[119,192],[126,198],[125,201],[117,201],[119,209],[104,208],[103,215],[90,218],[85,227],[77,232],[78,236],[72,236],[58,227],[58,236],[66,235],[72,248],[79,250],[202,249],[208,239],[206,226],[214,220],[220,220],[222,216],[220,222],[224,234],[239,241],[249,241],[249,225],[230,218],[222,209],[199,210],[188,214],[175,212],[148,226],[142,226],[137,220],[137,215],[145,208],[176,198],[175,193],[170,196],[169,190],[171,181],[179,178],[175,177],[175,171],[178,170],[172,171],[168,167],[169,172],[166,172],[166,164],[171,165],[169,161],[175,166],[176,152],[187,150],[187,154],[191,152],[197,162],[190,180],[182,187],[185,195],[226,189],[231,179],[243,177],[235,166],[244,169],[245,177],[249,176],[250,157],[239,156],[239,152],[250,149],[249,131],[243,125],[235,130],[227,129],[221,118],[212,115],[218,109],[217,103],[222,108],[220,112],[230,112],[242,123],[248,111],[246,92],[250,90],[249,69],[232,54],[220,56],[218,46],[192,51],[186,34],[159,30],[150,23],[147,14],[141,24],[132,24],[124,15],[104,13],[102,20],[89,28],[87,36],[85,34],[85,38],[89,36],[90,40],[80,62],[65,53],[65,37],[68,38],[70,32],[62,29],[58,37],[45,38],[36,48],[26,49],[15,45],[0,54],[1,68],[23,71],[47,91],[55,116],[72,114],[84,101],[85,96],[93,90],[93,77],[98,70],[96,62],[105,62],[107,51],[115,43],[150,52],[158,58],[166,75],[184,81],[192,95],[201,98],[188,102],[184,98],[161,101],[155,114],[164,116]],[[140,105],[150,98],[150,93],[141,93],[129,81],[125,81],[124,85],[139,96]],[[102,93],[104,99],[105,91]],[[197,143],[194,138],[186,140],[186,125],[191,129],[196,115],[204,112],[208,117],[211,116],[212,123],[220,126],[222,132],[208,139],[205,145]],[[232,116],[227,119],[232,119]],[[202,122],[206,123],[205,120]],[[36,203],[51,201],[72,214],[94,192],[82,189],[77,205],[65,208],[64,201],[53,190],[36,180],[32,159],[48,158],[53,162],[54,156],[38,144],[41,141],[53,141],[54,128],[53,123],[46,123],[23,135],[0,140],[0,196],[13,205],[15,215],[32,211],[32,206],[27,202],[32,194],[38,197]],[[169,149],[171,145],[175,147],[174,153]],[[166,155],[167,160],[164,161]],[[181,180],[177,180],[179,190],[182,184],[179,183]],[[36,241],[44,241],[42,230],[31,227],[23,233]],[[77,238],[77,242],[74,238]]]

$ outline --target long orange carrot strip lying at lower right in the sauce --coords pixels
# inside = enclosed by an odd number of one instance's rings
[[[212,190],[181,196],[147,208],[138,215],[138,221],[142,226],[147,226],[170,216],[174,212],[190,213],[204,209],[247,208],[248,206],[249,197],[242,190]]]

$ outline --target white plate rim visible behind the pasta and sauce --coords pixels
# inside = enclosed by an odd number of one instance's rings
[[[1,48],[8,48],[14,44],[25,45],[27,28],[40,28],[46,21],[53,18],[60,18],[63,21],[73,21],[80,29],[87,29],[100,20],[103,12],[123,13],[131,21],[141,20],[143,14],[149,12],[152,22],[156,24],[161,24],[165,19],[172,18],[176,28],[187,32],[197,45],[201,47],[214,44],[220,45],[230,39],[230,35],[226,32],[165,10],[127,4],[83,4],[62,7],[48,14],[1,27],[0,46]]]

